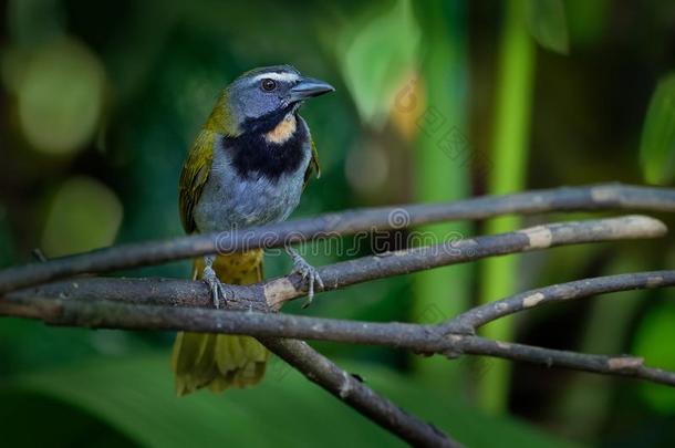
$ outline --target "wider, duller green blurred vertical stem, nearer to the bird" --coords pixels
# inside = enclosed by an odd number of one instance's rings
[[[426,111],[417,122],[419,136],[415,152],[416,200],[428,202],[468,196],[467,154],[448,155],[448,135],[466,122],[466,4],[439,0],[418,3],[423,29],[422,75],[426,90]],[[434,119],[432,119],[434,117]],[[428,119],[428,122],[427,122]],[[432,124],[433,122],[433,124]],[[457,149],[457,148],[454,148]],[[467,149],[467,148],[463,148]],[[454,153],[453,153],[454,154]],[[443,223],[420,229],[440,241],[467,235],[467,225]],[[413,320],[437,323],[466,311],[469,304],[469,267],[443,268],[414,277]],[[424,381],[448,390],[461,390],[458,369],[446,360],[413,358]]]

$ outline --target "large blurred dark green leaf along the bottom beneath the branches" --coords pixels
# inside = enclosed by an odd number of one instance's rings
[[[17,400],[8,399],[11,394],[23,394],[23,397],[38,394],[60,402],[63,409],[82,409],[145,447],[224,444],[313,447],[319,440],[323,447],[404,446],[282,362],[272,360],[271,363],[268,377],[256,388],[227,390],[224,395],[198,393],[184,398],[174,395],[166,354],[101,360],[68,369],[24,374],[4,382],[6,387],[0,389],[3,440],[8,440],[8,434],[20,435],[34,428],[35,421],[60,415],[55,409],[49,415],[41,414],[35,399],[25,402],[25,406],[32,403],[32,411],[15,413]],[[438,396],[435,390],[392,372],[364,365],[352,365],[350,371],[357,372],[375,389],[468,446],[490,447],[495,440],[519,447],[568,446],[522,423],[463,408],[453,397]],[[77,435],[65,433],[70,438]]]

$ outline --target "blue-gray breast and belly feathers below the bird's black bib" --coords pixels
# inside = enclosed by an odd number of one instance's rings
[[[277,180],[256,174],[240,176],[231,166],[227,152],[221,150],[220,145],[215,148],[209,179],[194,213],[199,232],[277,222],[291,215],[300,202],[311,157],[309,145],[300,167]]]

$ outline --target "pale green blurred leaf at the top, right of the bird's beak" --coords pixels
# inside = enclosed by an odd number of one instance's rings
[[[392,3],[390,3],[392,4]],[[361,117],[382,125],[402,76],[417,60],[420,32],[409,0],[396,0],[385,12],[351,21],[343,32],[338,58]]]

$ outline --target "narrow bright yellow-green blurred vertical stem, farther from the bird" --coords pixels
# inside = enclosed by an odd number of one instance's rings
[[[510,0],[501,37],[497,106],[492,140],[492,169],[488,177],[490,194],[517,191],[525,187],[534,74],[534,43],[525,22],[525,1]],[[487,232],[517,228],[520,218],[506,217],[488,222]],[[516,291],[518,260],[513,257],[487,260],[481,265],[480,301],[486,303]],[[503,319],[484,329],[487,337],[509,341],[513,322]],[[480,406],[492,413],[507,404],[509,366],[496,363],[477,385]]]

